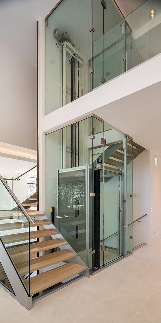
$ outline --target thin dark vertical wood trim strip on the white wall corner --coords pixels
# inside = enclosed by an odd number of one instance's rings
[[[37,210],[39,211],[39,168],[38,168],[38,21],[37,21]]]

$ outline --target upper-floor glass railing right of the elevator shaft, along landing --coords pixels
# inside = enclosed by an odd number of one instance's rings
[[[94,41],[94,88],[161,53],[161,2],[147,0]]]

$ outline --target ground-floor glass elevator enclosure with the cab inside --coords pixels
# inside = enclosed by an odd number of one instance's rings
[[[46,213],[54,207],[55,225],[92,272],[124,255],[132,158],[126,136],[95,117],[46,135]]]

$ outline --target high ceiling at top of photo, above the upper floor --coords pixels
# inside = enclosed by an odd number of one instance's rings
[[[125,14],[145,0],[117,0]],[[58,0],[0,0],[0,42],[36,66],[36,22]]]

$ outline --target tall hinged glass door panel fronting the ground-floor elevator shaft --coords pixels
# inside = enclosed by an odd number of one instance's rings
[[[103,266],[123,255],[124,135],[104,122]],[[101,184],[102,185],[102,184]]]

